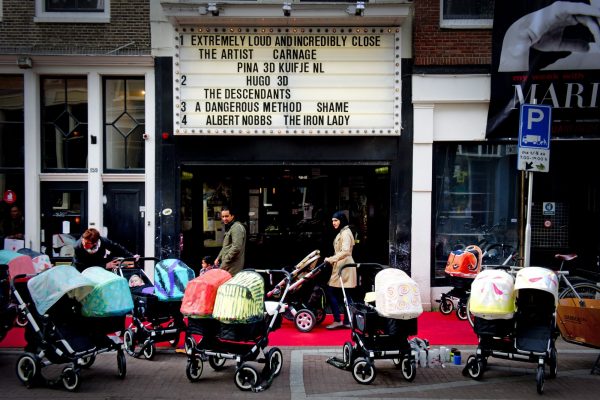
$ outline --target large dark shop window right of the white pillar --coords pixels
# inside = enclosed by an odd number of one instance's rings
[[[445,278],[452,250],[469,245],[494,249],[484,264],[501,264],[518,242],[516,146],[452,143],[434,151],[435,278]]]

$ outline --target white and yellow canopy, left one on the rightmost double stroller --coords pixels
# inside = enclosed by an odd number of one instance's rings
[[[483,319],[510,319],[515,313],[512,275],[501,269],[481,271],[471,285],[469,310]]]

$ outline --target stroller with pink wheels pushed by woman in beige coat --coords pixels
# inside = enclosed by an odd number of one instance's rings
[[[292,281],[289,283],[287,308],[283,316],[294,321],[300,332],[310,332],[327,316],[325,291],[318,282],[326,266],[325,263],[317,265],[319,258],[319,250],[314,250],[296,264],[290,274]],[[267,293],[267,298],[279,298],[286,285],[287,278],[284,278]]]

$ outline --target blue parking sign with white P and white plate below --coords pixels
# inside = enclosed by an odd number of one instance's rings
[[[552,108],[550,106],[521,105],[517,169],[537,172],[549,171],[551,123]]]

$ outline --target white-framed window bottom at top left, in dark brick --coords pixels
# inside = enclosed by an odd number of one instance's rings
[[[110,0],[36,0],[34,21],[108,23]]]

